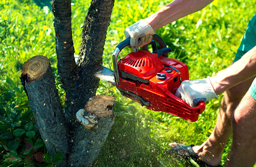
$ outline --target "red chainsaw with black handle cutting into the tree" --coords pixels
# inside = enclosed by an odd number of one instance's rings
[[[157,48],[157,43],[161,49]],[[196,122],[205,110],[205,102],[191,107],[175,96],[184,80],[189,80],[188,66],[181,61],[168,58],[172,52],[157,34],[138,52],[131,52],[118,60],[119,52],[130,45],[130,38],[120,42],[112,55],[113,70],[102,67],[95,76],[116,85],[123,96],[146,106],[153,111],[163,111],[177,117]],[[153,52],[149,52],[151,45]]]

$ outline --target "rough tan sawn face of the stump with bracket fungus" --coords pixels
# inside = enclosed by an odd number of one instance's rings
[[[85,105],[86,111],[97,115],[99,118],[113,115],[115,98],[112,96],[98,95],[91,97]]]

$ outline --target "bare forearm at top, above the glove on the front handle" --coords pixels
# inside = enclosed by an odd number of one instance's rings
[[[151,25],[155,32],[158,28],[203,9],[212,1],[213,0],[175,0],[150,17],[144,19],[144,21]]]

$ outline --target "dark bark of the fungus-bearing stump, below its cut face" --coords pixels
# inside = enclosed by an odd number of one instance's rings
[[[100,118],[98,124],[91,129],[85,129],[84,126],[79,125],[68,164],[70,166],[72,164],[73,167],[90,166],[102,149],[113,124],[114,115]]]

